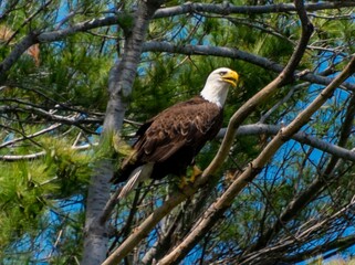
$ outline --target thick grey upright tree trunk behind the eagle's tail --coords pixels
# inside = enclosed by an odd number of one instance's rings
[[[123,57],[117,62],[109,73],[106,116],[102,142],[111,145],[112,136],[122,127],[132,93],[136,68],[140,60],[144,38],[155,11],[163,1],[140,1],[134,17],[134,25],[126,36]],[[104,148],[107,148],[104,146]],[[111,149],[111,148],[108,148]],[[109,155],[109,151],[107,151]],[[106,153],[107,153],[106,152]],[[109,179],[114,173],[112,161],[103,159],[97,162],[86,201],[86,220],[84,236],[84,253],[82,264],[96,265],[105,261],[107,255],[108,233],[106,220],[103,220],[103,210],[109,199]]]

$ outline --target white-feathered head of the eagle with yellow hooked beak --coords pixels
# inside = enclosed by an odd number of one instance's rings
[[[239,75],[237,72],[227,67],[217,68],[207,77],[200,95],[206,100],[215,103],[219,107],[223,107],[229,86],[232,85],[236,87],[238,80]]]

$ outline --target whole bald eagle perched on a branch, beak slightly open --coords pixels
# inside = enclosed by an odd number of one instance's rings
[[[185,176],[197,153],[221,128],[228,89],[237,86],[238,78],[230,68],[217,68],[200,95],[163,110],[140,126],[133,152],[112,179],[115,184],[128,180],[119,199],[147,178]]]

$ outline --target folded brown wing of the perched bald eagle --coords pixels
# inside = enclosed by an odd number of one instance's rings
[[[136,158],[140,162],[163,162],[186,146],[195,157],[216,136],[221,121],[222,110],[201,97],[174,105],[138,130]]]

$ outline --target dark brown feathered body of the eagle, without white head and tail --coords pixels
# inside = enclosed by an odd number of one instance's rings
[[[134,152],[123,162],[113,182],[126,181],[144,165],[152,165],[152,179],[184,176],[196,155],[221,128],[222,113],[222,107],[201,96],[165,109],[138,129]]]

